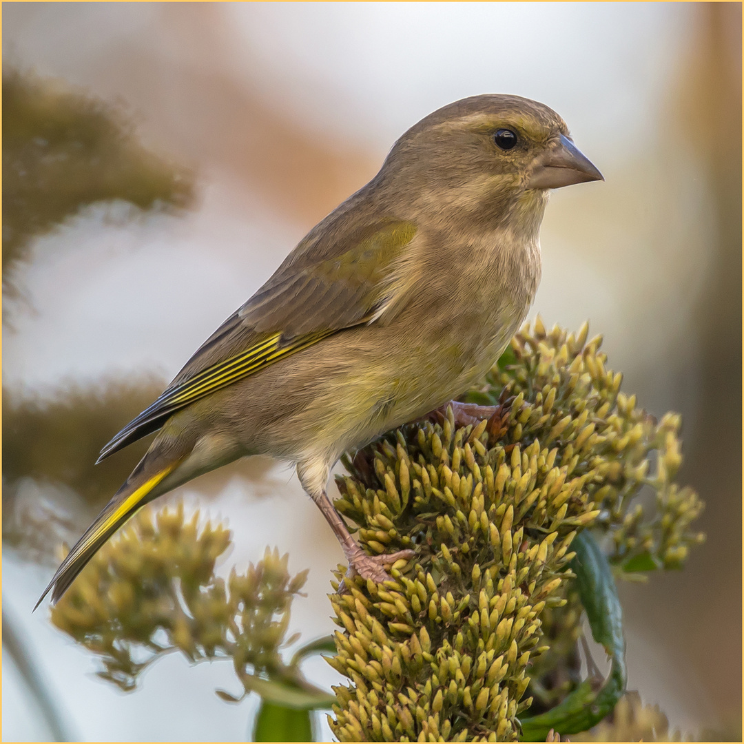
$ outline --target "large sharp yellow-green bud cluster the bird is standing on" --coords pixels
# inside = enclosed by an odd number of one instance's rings
[[[621,393],[587,330],[538,320],[446,416],[345,458],[336,508],[359,542],[416,557],[332,597],[331,664],[350,679],[335,688],[339,740],[516,740],[533,687],[557,702],[578,682],[576,530],[604,533],[628,571],[679,565],[702,539],[688,529],[701,502],[673,483],[679,417],[656,423]],[[631,504],[643,487],[655,514]]]

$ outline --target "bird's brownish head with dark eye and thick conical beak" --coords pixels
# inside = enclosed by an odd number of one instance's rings
[[[603,179],[556,112],[500,94],[455,101],[411,126],[379,176],[417,208],[492,224],[515,213],[539,224],[548,190]]]

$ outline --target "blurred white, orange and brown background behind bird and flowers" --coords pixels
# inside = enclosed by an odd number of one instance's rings
[[[246,738],[254,702],[214,694],[231,669],[174,655],[124,694],[31,608],[56,546],[141,454],[94,470],[97,449],[408,126],[483,92],[553,107],[602,170],[606,183],[551,198],[530,317],[589,318],[623,389],[683,414],[680,480],[707,504],[708,542],[684,571],[620,586],[629,687],[687,735],[740,738],[740,4],[19,3],[2,21],[4,740]],[[24,85],[43,106],[24,104]],[[46,135],[6,151],[32,109],[69,133],[62,109],[80,96],[102,102],[86,109],[83,140],[100,150],[86,164],[50,155]],[[35,207],[29,147],[48,156]],[[115,177],[90,184],[101,153]],[[310,567],[292,631],[332,631],[342,554],[292,469],[247,461],[167,498],[229,520],[225,570],[266,545]],[[320,659],[307,671],[336,680]]]

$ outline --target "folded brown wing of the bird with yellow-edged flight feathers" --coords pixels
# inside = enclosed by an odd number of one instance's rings
[[[332,333],[371,323],[400,297],[412,222],[381,221],[343,245],[309,236],[189,359],[166,390],[101,450],[98,461],[159,429],[179,408]]]

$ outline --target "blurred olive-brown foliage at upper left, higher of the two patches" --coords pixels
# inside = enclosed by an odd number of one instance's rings
[[[109,103],[6,65],[2,78],[3,290],[31,239],[94,202],[185,207],[187,170],[146,150]]]

